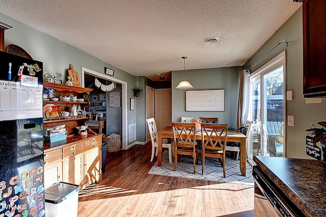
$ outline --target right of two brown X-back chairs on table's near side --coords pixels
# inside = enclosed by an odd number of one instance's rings
[[[226,136],[228,134],[228,124],[219,125],[214,123],[202,123],[202,167],[204,174],[205,157],[221,159],[221,166],[223,167],[224,178],[225,175],[225,148]],[[224,137],[222,137],[224,136]]]

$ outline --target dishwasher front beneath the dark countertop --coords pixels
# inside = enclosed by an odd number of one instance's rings
[[[266,174],[253,167],[254,216],[305,216]]]

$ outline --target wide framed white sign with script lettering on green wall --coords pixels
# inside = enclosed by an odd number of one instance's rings
[[[225,111],[224,89],[186,90],[186,111]]]

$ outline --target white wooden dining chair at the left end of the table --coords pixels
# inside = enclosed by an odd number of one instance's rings
[[[151,135],[151,141],[152,141],[151,161],[153,161],[154,152],[155,152],[155,156],[157,156],[157,151],[158,151],[157,150],[157,146],[158,146],[157,128],[156,128],[155,119],[153,117],[146,119],[146,121],[147,121],[147,125],[148,125],[149,134]],[[171,164],[172,156],[173,156],[173,141],[171,141],[171,139],[162,139],[162,148],[168,148],[169,162]],[[156,151],[155,151],[155,149],[156,149]]]

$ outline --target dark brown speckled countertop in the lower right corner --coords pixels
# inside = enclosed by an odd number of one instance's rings
[[[321,161],[261,156],[253,159],[306,216],[326,216],[326,165]]]

